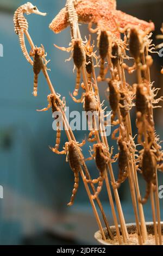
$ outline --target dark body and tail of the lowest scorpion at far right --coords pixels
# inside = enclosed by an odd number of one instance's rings
[[[139,201],[142,204],[145,204],[149,198],[149,194],[151,193],[151,185],[156,185],[154,157],[150,149],[145,149],[142,156],[142,175],[147,182],[147,188],[145,197]]]

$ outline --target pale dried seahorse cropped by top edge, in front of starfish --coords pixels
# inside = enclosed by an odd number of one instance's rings
[[[66,1],[66,11],[68,16],[68,22],[70,23],[71,28],[71,39],[77,39],[77,28],[78,28],[78,15],[77,11],[74,8],[74,5],[77,3],[77,0],[67,0]]]

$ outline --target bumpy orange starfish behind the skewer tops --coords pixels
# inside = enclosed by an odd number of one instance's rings
[[[78,20],[81,23],[95,23],[99,28],[115,31],[117,24],[124,28],[127,25],[139,26],[143,31],[147,28],[154,30],[153,22],[139,20],[136,17],[116,10],[116,0],[78,0],[75,5]],[[49,28],[54,33],[60,33],[69,25],[66,8],[54,18]]]

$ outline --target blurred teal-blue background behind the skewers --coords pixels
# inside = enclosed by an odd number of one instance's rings
[[[57,156],[49,150],[54,145],[55,132],[52,130],[51,111],[37,113],[35,109],[47,106],[49,90],[42,74],[39,76],[38,97],[32,96],[33,70],[26,62],[14,33],[13,15],[19,0],[0,0],[0,43],[4,46],[4,57],[0,58],[1,94],[0,94],[0,184],[4,187],[4,199],[0,199],[0,244],[95,244],[93,233],[98,229],[83,182],[75,204],[67,208],[73,188],[73,173],[64,156]],[[76,75],[72,73],[73,63],[65,63],[68,53],[60,52],[53,44],[68,46],[70,31],[66,29],[55,35],[49,30],[49,23],[64,7],[63,0],[32,1],[40,11],[47,12],[46,17],[29,15],[29,33],[35,45],[43,44],[51,59],[50,77],[55,90],[66,96],[67,106],[71,110],[82,110],[82,106],[73,103],[69,92],[74,88]],[[155,35],[160,34],[163,1],[117,1],[118,8],[144,20],[152,20],[156,25]],[[86,27],[81,27],[86,34]],[[157,43],[156,43],[157,44]],[[28,47],[30,50],[30,47]],[[160,69],[162,59],[155,55],[152,79],[155,86],[161,87]],[[128,77],[129,82],[135,82]],[[105,85],[101,97],[104,95]],[[163,94],[162,94],[163,95]],[[134,126],[133,113],[133,126]],[[155,124],[161,138],[162,109],[155,113]],[[136,130],[134,131],[136,133]],[[77,141],[82,141],[84,132],[75,132]],[[62,132],[61,145],[66,141]],[[112,142],[110,142],[112,143]],[[84,155],[88,156],[88,145]],[[93,162],[88,163],[91,174],[98,175]],[[117,167],[115,165],[115,175]],[[160,185],[162,176],[160,176]],[[140,178],[140,187],[145,182]],[[134,222],[127,182],[120,188],[120,197],[126,222]],[[105,187],[101,199],[110,224],[112,217]],[[163,200],[163,199],[162,199]],[[161,214],[162,200],[160,200]],[[150,205],[145,206],[146,220],[152,220]],[[163,219],[163,215],[161,216]]]

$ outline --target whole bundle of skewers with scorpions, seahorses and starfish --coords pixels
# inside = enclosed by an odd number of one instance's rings
[[[87,2],[87,8],[85,8],[85,2]],[[99,10],[105,10],[105,12],[101,14]],[[89,159],[85,159],[82,147],[86,140],[78,143],[74,137],[65,114],[65,99],[61,99],[61,96],[54,90],[48,75],[47,54],[43,45],[35,47],[28,33],[28,22],[24,17],[25,13],[46,14],[40,13],[34,5],[28,2],[15,11],[14,25],[24,56],[33,66],[33,95],[37,96],[38,79],[41,71],[45,75],[51,91],[47,97],[48,106],[41,109],[41,111],[52,109],[53,114],[56,113],[57,138],[55,146],[50,149],[55,154],[67,155],[66,161],[69,162],[74,173],[74,186],[68,206],[72,206],[74,203],[79,186],[79,177],[81,176],[102,239],[104,241],[107,239],[114,241],[116,234],[118,244],[125,244],[130,241],[130,236],[124,219],[118,188],[123,186],[123,182],[128,179],[136,223],[137,244],[145,244],[148,240],[143,204],[149,199],[151,200],[153,216],[154,241],[156,245],[161,245],[158,170],[163,172],[163,153],[160,139],[155,131],[153,108],[161,107],[162,97],[156,98],[159,89],[154,88],[150,76],[150,69],[153,64],[151,53],[156,53],[151,39],[154,29],[153,23],[140,21],[116,10],[116,1],[113,0],[67,0],[66,7],[60,11],[50,24],[49,28],[55,33],[61,32],[68,25],[70,26],[71,42],[69,47],[54,46],[62,51],[71,52],[71,57],[68,60],[73,60],[74,68],[77,70],[76,83],[74,88],[72,87],[71,99],[74,102],[82,103],[85,113],[95,113],[95,115],[92,115],[92,127],[87,137],[87,141],[92,143],[91,155]],[[117,15],[119,19],[115,19]],[[97,33],[97,50],[95,50],[95,42],[91,42],[91,35],[83,41],[79,30],[79,22],[88,23],[90,33]],[[96,29],[92,29],[92,23],[97,25]],[[27,51],[24,36],[26,36],[32,48],[30,53]],[[97,52],[99,52],[99,56]],[[127,65],[128,60],[133,61],[133,66]],[[99,68],[97,76],[96,68]],[[137,81],[134,84],[127,83],[127,73],[130,76],[136,73]],[[96,115],[98,117],[104,116],[105,112],[104,104],[101,103],[99,95],[101,82],[108,84],[105,103],[109,102],[111,108],[111,137],[117,141],[118,145],[118,153],[115,155],[106,136],[105,128],[108,124],[97,122],[96,118]],[[82,91],[81,97],[78,96],[80,91]],[[133,136],[130,118],[130,111],[133,108],[136,111],[136,136]],[[62,133],[58,121],[59,115],[67,136],[67,142],[63,145],[63,150],[59,150]],[[140,150],[137,150],[137,144],[141,147]],[[86,166],[87,160],[96,162],[97,174],[95,179],[90,176]],[[113,170],[116,161],[119,169],[117,181]],[[141,195],[137,173],[141,173],[145,180],[145,196]],[[115,234],[112,233],[99,199],[104,182],[114,220]],[[111,193],[112,190],[113,194]],[[97,207],[102,218],[98,214]],[[107,235],[103,229],[102,219],[106,225]]]

